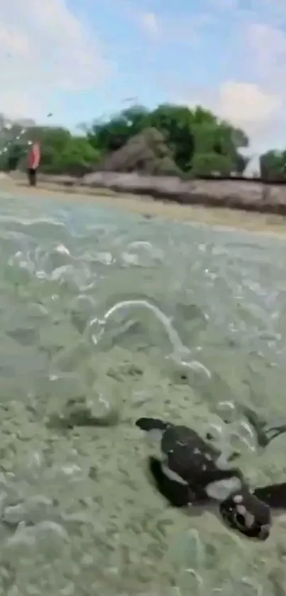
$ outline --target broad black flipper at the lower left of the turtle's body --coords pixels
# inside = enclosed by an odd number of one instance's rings
[[[189,501],[189,487],[187,484],[178,484],[175,480],[165,476],[162,462],[156,457],[149,457],[148,468],[156,489],[170,505],[173,507],[187,506]]]

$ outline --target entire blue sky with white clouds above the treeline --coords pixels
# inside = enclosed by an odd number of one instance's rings
[[[203,105],[286,148],[286,0],[0,0],[0,112],[77,124]],[[53,117],[47,119],[48,113]]]

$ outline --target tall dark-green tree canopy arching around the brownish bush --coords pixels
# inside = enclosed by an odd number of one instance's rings
[[[170,151],[171,171],[210,174],[209,168],[214,169],[215,164],[216,170],[230,174],[242,173],[246,167],[247,160],[238,151],[248,146],[246,134],[202,107],[190,110],[187,106],[162,104],[148,112],[133,106],[105,122],[92,124],[87,138],[104,158],[150,127],[163,134]]]

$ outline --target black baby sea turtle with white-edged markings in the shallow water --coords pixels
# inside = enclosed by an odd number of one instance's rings
[[[141,417],[136,425],[160,435],[162,459],[149,458],[155,486],[177,507],[218,504],[221,518],[248,538],[265,541],[271,513],[265,501],[253,494],[240,469],[195,430],[157,418]]]

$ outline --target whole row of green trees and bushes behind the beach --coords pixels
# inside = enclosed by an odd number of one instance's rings
[[[105,121],[84,125],[81,135],[63,127],[14,123],[0,132],[0,168],[25,168],[28,142],[33,140],[41,143],[41,170],[47,174],[81,176],[105,169],[228,176],[243,174],[247,165],[240,152],[248,147],[246,134],[202,107],[190,110],[165,104],[150,111],[135,105]],[[263,176],[283,177],[286,151],[270,151],[260,164]]]

